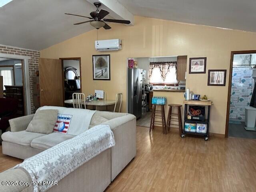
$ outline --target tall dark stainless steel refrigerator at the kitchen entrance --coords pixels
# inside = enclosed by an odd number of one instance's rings
[[[141,117],[143,69],[128,69],[128,113]]]

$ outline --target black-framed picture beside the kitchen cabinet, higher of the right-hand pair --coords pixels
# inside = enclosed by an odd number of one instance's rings
[[[189,58],[189,73],[206,73],[206,57]]]

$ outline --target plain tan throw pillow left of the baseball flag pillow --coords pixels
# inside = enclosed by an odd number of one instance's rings
[[[57,118],[58,110],[56,109],[36,110],[26,131],[50,134],[56,125]]]

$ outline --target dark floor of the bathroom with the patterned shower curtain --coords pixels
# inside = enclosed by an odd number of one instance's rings
[[[246,131],[244,129],[244,122],[241,125],[228,124],[228,137],[240,137],[247,139],[256,139],[256,131]]]

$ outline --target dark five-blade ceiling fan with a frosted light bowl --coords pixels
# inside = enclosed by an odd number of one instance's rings
[[[91,26],[94,26],[96,29],[99,29],[101,27],[103,27],[104,29],[111,29],[111,27],[108,24],[106,24],[105,22],[130,24],[130,21],[128,21],[128,20],[104,19],[104,17],[106,15],[108,15],[109,12],[104,10],[104,9],[101,9],[99,11],[99,7],[101,6],[100,2],[95,2],[94,5],[96,6],[97,10],[90,13],[91,17],[76,15],[76,14],[70,14],[70,13],[65,13],[65,14],[66,15],[74,15],[74,16],[78,16],[78,17],[88,18],[88,19],[90,19],[89,21],[75,23],[74,25],[80,25],[80,24],[90,22]]]

